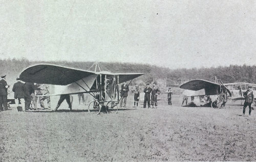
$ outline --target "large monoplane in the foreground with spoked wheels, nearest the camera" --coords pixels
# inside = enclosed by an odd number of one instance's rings
[[[119,84],[126,81],[131,83],[134,78],[144,73],[96,72],[97,65],[92,72],[59,65],[37,64],[26,68],[19,78],[24,82],[55,85],[51,94],[41,96],[87,93],[93,97],[93,101],[88,104],[89,112],[99,114],[101,109],[108,113],[117,112],[121,99]]]

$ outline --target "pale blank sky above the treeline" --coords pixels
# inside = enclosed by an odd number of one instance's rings
[[[255,65],[255,1],[3,1],[0,58]]]

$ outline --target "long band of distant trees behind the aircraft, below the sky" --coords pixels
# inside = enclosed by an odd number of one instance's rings
[[[1,73],[8,75],[8,81],[13,84],[19,74],[28,66],[38,63],[50,63],[73,68],[88,70],[94,62],[68,62],[68,61],[49,61],[38,62],[28,61],[27,59],[6,59],[0,60]],[[158,67],[149,64],[134,63],[106,63],[99,62],[102,71],[120,72],[120,73],[145,73],[145,75],[136,78],[132,85],[145,85],[146,82],[165,82],[161,83],[166,86],[179,86],[181,83],[191,79],[205,79],[214,81],[215,76],[224,83],[230,82],[249,82],[256,83],[256,66],[248,65],[230,65],[226,67],[210,68],[179,68],[170,70],[169,68]],[[94,71],[90,68],[90,71]],[[160,84],[160,83],[159,83]]]

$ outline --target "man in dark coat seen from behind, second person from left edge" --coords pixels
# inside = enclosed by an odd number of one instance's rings
[[[15,99],[16,106],[19,106],[22,104],[21,99],[24,99],[25,84],[20,82],[19,78],[17,78],[16,80],[17,82],[14,83],[12,87],[12,91],[14,92],[14,99]]]

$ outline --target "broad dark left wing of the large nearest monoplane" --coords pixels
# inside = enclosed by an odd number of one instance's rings
[[[91,75],[95,73],[58,65],[38,64],[26,68],[19,78],[25,82],[68,85]]]

